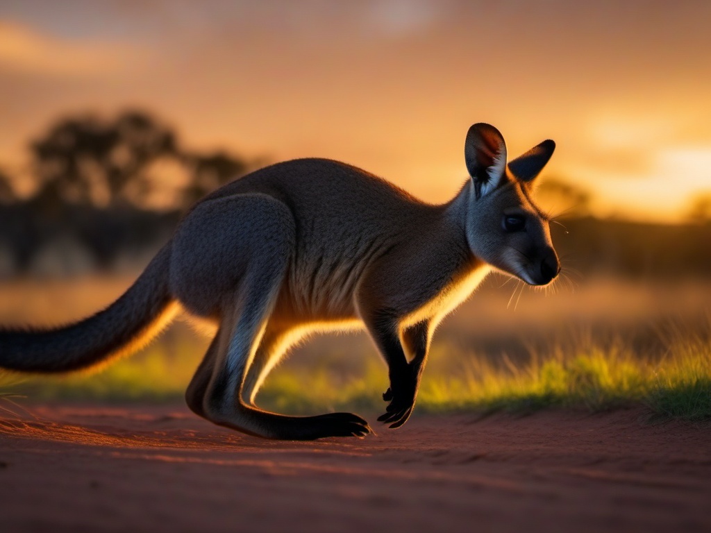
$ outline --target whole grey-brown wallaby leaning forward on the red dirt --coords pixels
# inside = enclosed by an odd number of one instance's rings
[[[265,438],[365,436],[350,413],[284,416],[255,405],[264,378],[314,331],[362,328],[387,363],[378,418],[405,424],[432,333],[493,268],[530,285],[560,271],[531,183],[555,149],[506,164],[506,144],[474,124],[470,179],[443,205],[423,203],[338,161],[267,166],[208,195],[117,301],[53,329],[0,330],[0,367],[66,372],[137,350],[184,309],[217,327],[186,392],[215,424]]]

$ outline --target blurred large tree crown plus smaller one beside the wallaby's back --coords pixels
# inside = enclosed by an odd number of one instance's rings
[[[225,151],[185,150],[169,126],[136,110],[108,121],[90,114],[65,117],[30,148],[38,183],[33,201],[43,212],[64,204],[150,208],[151,195],[175,198],[169,208],[184,209],[250,166]],[[156,175],[156,168],[170,167],[161,167],[166,162],[183,169],[187,180],[171,182],[165,172],[161,179],[160,170]]]

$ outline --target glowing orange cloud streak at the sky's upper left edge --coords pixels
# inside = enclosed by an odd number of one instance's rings
[[[139,50],[95,38],[67,39],[0,20],[0,70],[31,75],[82,76],[125,72],[142,63]]]

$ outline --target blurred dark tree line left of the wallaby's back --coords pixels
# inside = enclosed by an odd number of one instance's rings
[[[29,196],[0,170],[0,275],[75,270],[77,252],[85,269],[150,253],[181,212],[255,165],[227,151],[188,149],[141,110],[59,119],[28,148]]]

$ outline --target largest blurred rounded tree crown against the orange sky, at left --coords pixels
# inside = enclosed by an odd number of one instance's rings
[[[117,207],[137,203],[157,158],[178,157],[176,134],[150,114],[127,111],[113,121],[92,115],[60,119],[31,144],[38,196],[48,202]]]

